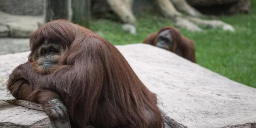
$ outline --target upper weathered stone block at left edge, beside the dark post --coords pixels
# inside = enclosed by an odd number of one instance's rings
[[[20,16],[0,12],[0,25],[8,28],[10,37],[26,38],[44,23],[43,16]]]

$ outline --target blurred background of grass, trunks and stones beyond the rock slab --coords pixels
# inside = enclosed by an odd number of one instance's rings
[[[29,51],[30,35],[55,19],[113,45],[174,26],[195,42],[199,65],[256,87],[256,0],[0,0],[0,55]]]

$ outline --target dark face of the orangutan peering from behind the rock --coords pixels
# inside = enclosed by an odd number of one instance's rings
[[[172,45],[173,45],[173,39],[169,30],[167,29],[167,30],[164,30],[163,32],[160,32],[160,34],[158,35],[157,47],[160,47],[166,50],[172,50]]]

